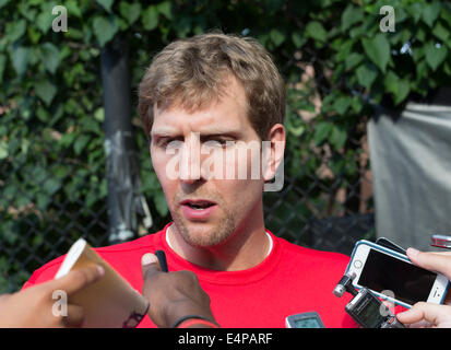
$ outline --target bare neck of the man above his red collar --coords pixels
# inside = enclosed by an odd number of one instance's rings
[[[234,232],[227,242],[214,247],[199,247],[185,242],[173,224],[166,231],[166,240],[179,256],[192,264],[212,270],[238,271],[263,261],[272,247],[272,238],[265,232],[264,224],[249,229]]]

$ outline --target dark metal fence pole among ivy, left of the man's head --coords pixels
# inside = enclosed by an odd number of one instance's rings
[[[116,37],[102,49],[105,108],[109,243],[135,236],[135,188],[139,182],[131,124],[128,45]]]

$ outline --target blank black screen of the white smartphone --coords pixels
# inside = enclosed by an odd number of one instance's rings
[[[410,305],[427,301],[437,275],[370,249],[358,284],[376,292],[391,291]]]

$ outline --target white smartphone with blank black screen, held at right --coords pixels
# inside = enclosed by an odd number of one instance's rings
[[[441,304],[450,283],[446,276],[414,265],[406,255],[365,240],[355,245],[346,272],[355,273],[357,289],[366,287],[407,308],[420,301]]]

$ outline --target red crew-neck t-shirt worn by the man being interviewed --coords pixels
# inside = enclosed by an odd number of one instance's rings
[[[96,248],[96,252],[141,291],[141,257],[165,250],[169,271],[191,270],[198,276],[222,327],[283,328],[287,316],[313,311],[327,328],[357,326],[344,311],[351,295],[333,295],[349,260],[347,256],[300,247],[268,231],[273,247],[262,262],[241,271],[216,271],[179,257],[166,242],[168,226],[132,242]],[[59,257],[37,269],[24,288],[52,279],[62,259]],[[145,316],[139,327],[155,325]]]

